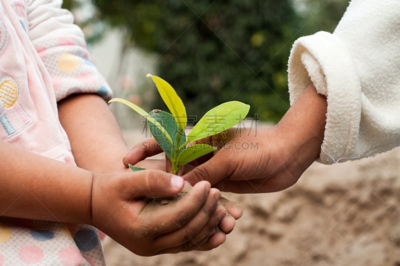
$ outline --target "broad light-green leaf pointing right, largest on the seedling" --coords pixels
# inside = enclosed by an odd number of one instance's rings
[[[204,114],[187,135],[188,141],[195,141],[220,133],[243,120],[250,106],[231,101],[220,104]]]

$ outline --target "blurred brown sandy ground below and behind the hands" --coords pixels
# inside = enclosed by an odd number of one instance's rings
[[[142,136],[129,132],[128,143]],[[292,187],[230,194],[244,213],[221,246],[154,257],[104,240],[108,265],[400,265],[400,149],[332,166]]]

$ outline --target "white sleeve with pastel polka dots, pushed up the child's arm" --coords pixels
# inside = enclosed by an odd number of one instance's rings
[[[50,74],[57,101],[73,93],[96,93],[105,100],[111,89],[88,61],[83,34],[61,0],[27,0],[27,31]]]

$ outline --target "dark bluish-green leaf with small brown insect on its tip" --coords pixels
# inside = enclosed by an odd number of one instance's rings
[[[148,122],[148,127],[150,129],[151,134],[155,138],[155,140],[160,145],[161,149],[165,152],[166,156],[169,159],[173,158],[173,152],[176,150],[176,142],[177,142],[177,134],[179,134],[178,126],[176,125],[175,119],[173,116],[164,111],[151,111],[149,115],[154,118],[161,126],[166,130],[169,136],[172,139],[172,153],[171,153],[171,145],[165,138],[165,136],[159,131],[157,127],[155,127],[152,123]],[[185,140],[186,136],[184,131],[182,131],[180,136],[179,145],[182,145]]]

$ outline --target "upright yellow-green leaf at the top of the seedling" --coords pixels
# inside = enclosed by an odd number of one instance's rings
[[[178,128],[183,131],[187,123],[187,118],[186,109],[184,108],[182,100],[168,82],[151,74],[147,74],[146,76],[151,77],[158,89],[159,94],[161,95],[162,100],[175,118]]]

